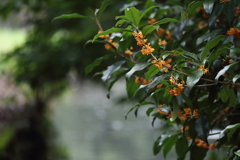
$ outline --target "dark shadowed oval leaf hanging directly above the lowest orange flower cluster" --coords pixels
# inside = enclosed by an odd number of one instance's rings
[[[200,139],[204,142],[208,143],[207,137],[209,134],[209,123],[206,114],[201,114],[199,118],[196,120],[195,130]]]

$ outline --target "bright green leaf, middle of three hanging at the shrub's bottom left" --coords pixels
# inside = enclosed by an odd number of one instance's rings
[[[164,158],[166,158],[166,155],[170,152],[170,150],[176,144],[177,141],[178,141],[178,134],[172,135],[164,140],[164,145],[163,145]]]

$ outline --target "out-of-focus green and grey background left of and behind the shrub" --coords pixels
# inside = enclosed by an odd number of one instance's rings
[[[84,47],[98,31],[95,22],[52,22],[62,14],[91,16],[101,2],[0,1],[1,160],[163,159],[153,155],[152,146],[165,123],[152,127],[147,106],[125,120],[136,103],[126,101],[125,80],[108,99],[100,77],[85,76],[85,67],[108,52],[103,44]],[[143,2],[114,1],[100,19],[103,28],[115,24],[113,15],[133,5],[141,9]],[[174,152],[167,159],[175,160]]]

